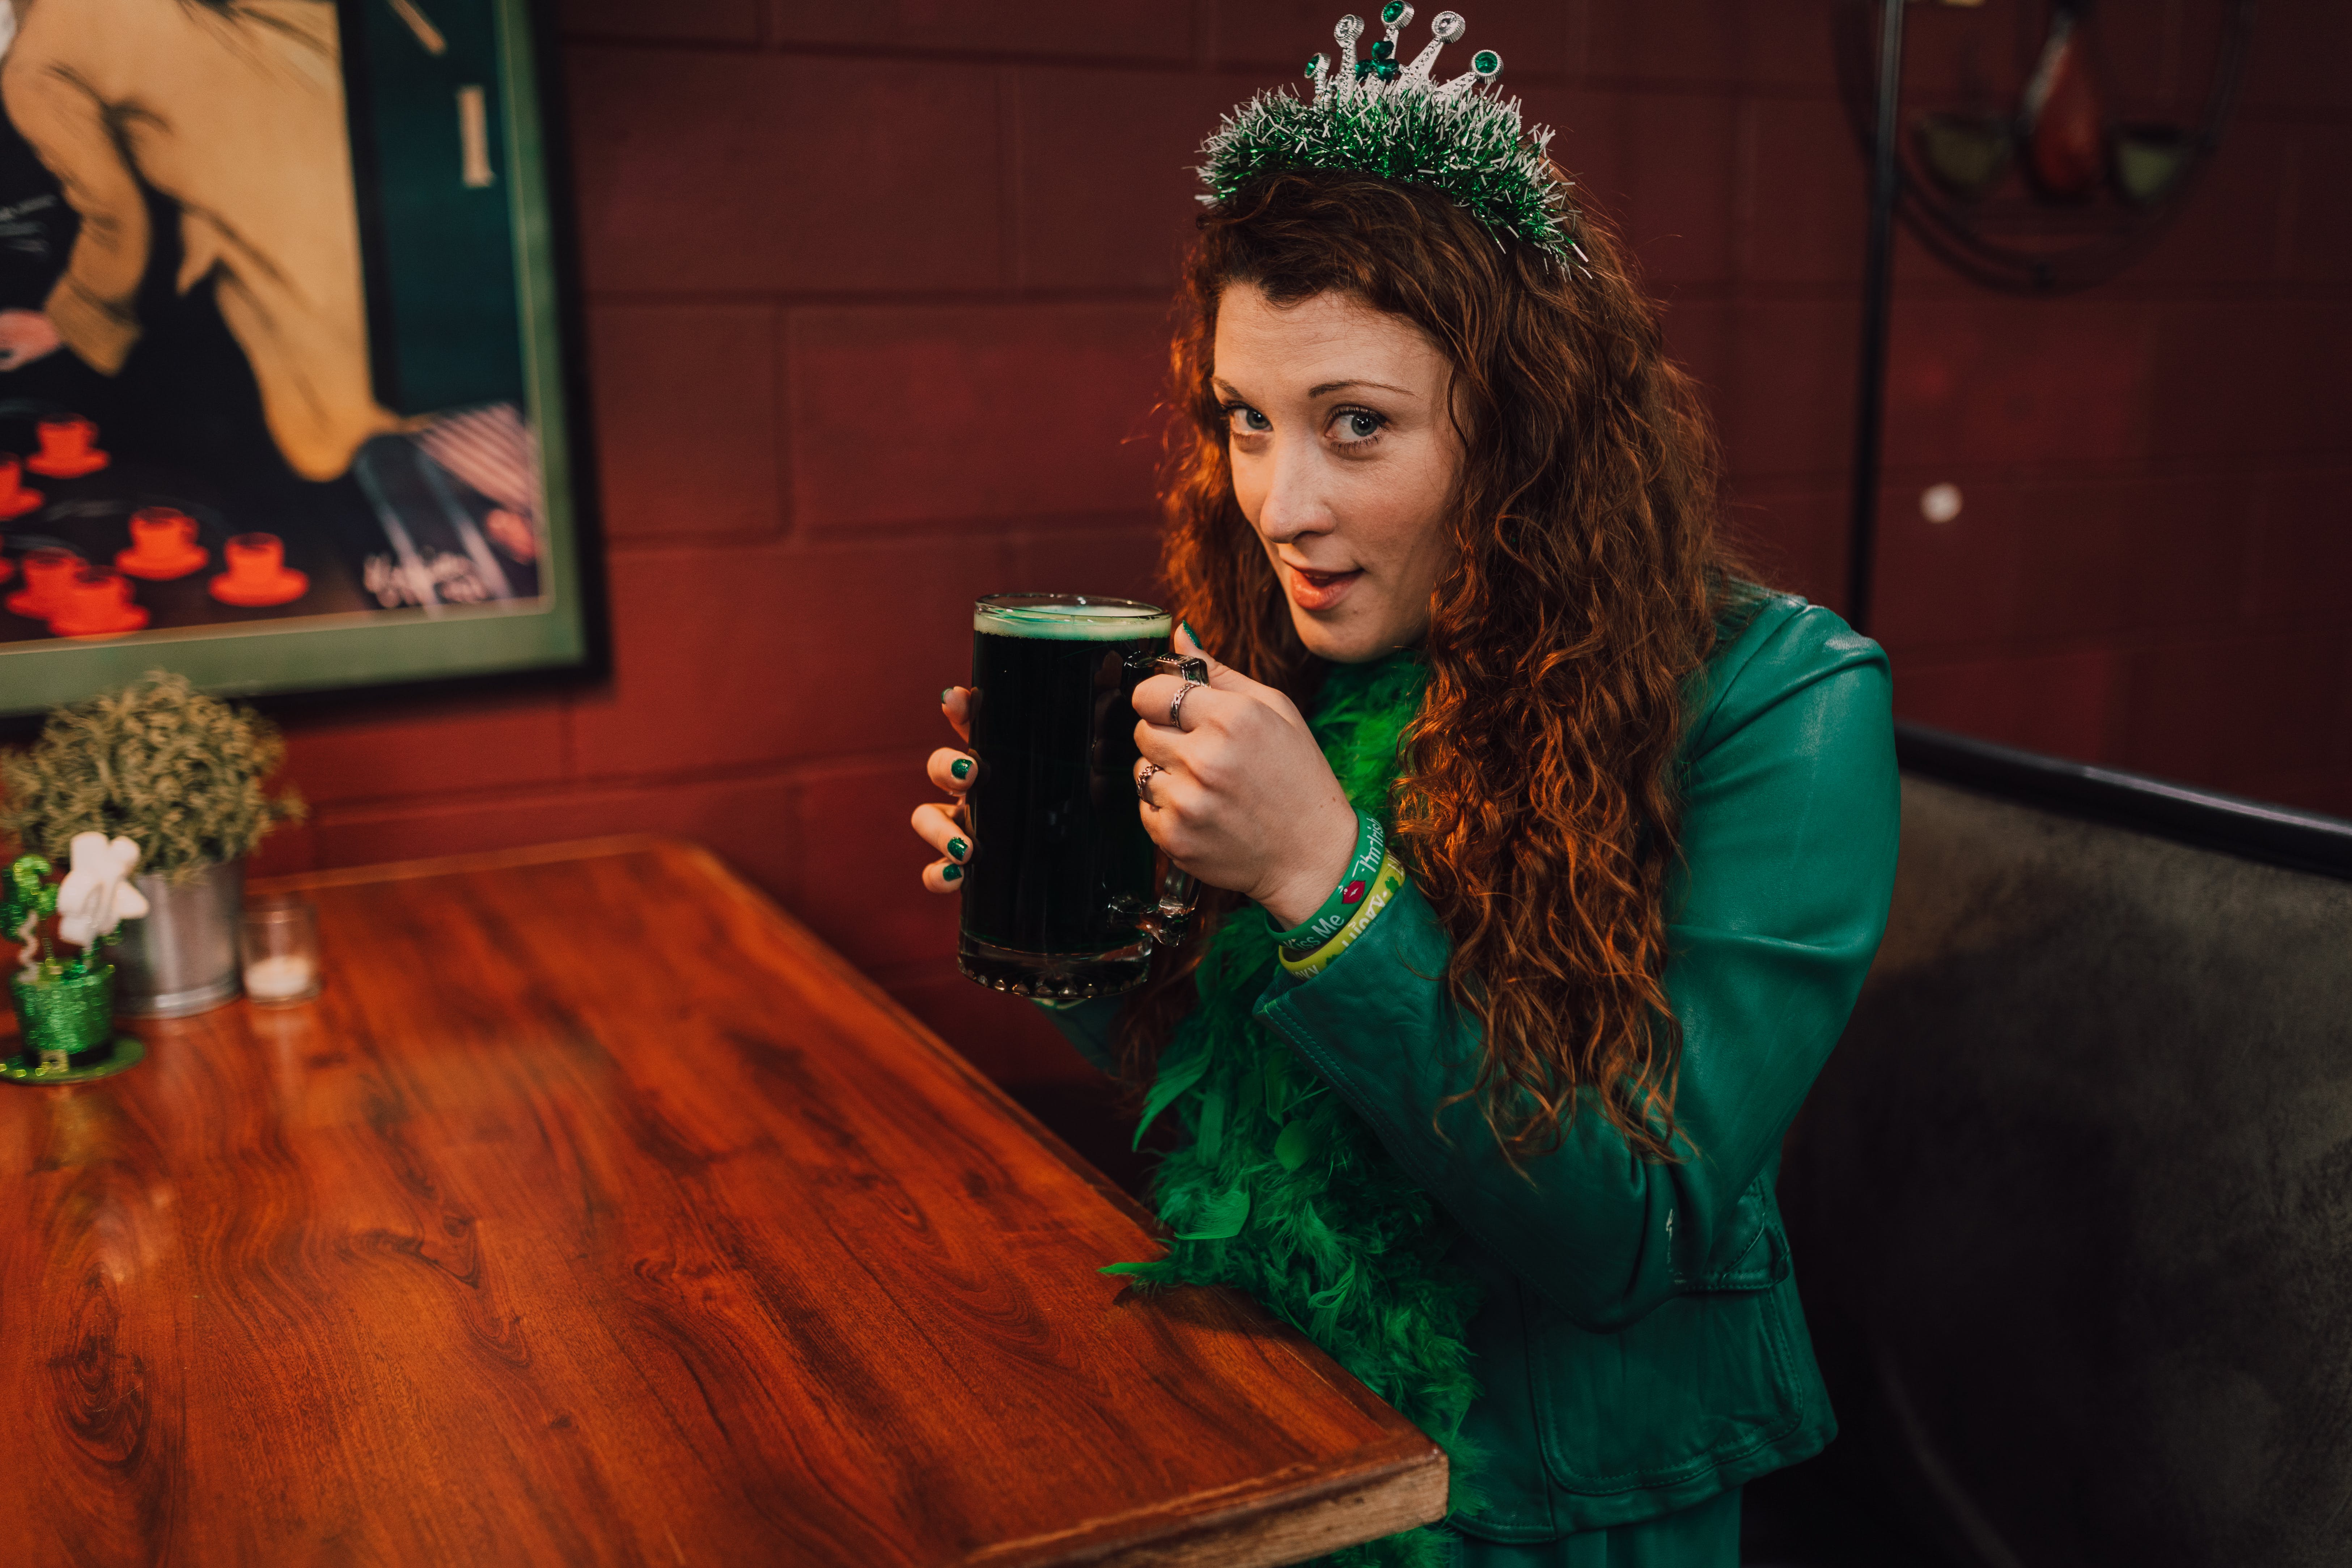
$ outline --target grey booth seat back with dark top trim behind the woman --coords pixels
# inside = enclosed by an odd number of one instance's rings
[[[1839,1486],[1919,1561],[2352,1563],[2352,823],[1903,755],[1780,1178]]]

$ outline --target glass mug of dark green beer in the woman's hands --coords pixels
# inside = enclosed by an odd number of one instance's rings
[[[1160,903],[1136,813],[1136,682],[1174,670],[1134,599],[990,595],[971,614],[974,856],[957,966],[1023,997],[1143,980]],[[1195,661],[1185,661],[1195,663]]]

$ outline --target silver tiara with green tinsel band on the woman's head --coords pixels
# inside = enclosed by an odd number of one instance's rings
[[[1200,179],[1209,186],[1200,200],[1230,200],[1275,169],[1357,169],[1442,190],[1496,235],[1526,240],[1562,263],[1583,261],[1569,186],[1545,155],[1550,127],[1522,127],[1519,101],[1491,92],[1503,56],[1479,49],[1465,75],[1435,85],[1437,52],[1468,24],[1458,12],[1437,12],[1430,42],[1411,66],[1399,66],[1397,33],[1411,19],[1404,0],[1383,5],[1388,38],[1371,45],[1371,59],[1357,59],[1364,19],[1341,16],[1331,31],[1338,68],[1329,54],[1308,61],[1312,99],[1261,92],[1228,113],[1200,148]]]

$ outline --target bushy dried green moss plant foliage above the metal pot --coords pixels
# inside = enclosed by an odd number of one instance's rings
[[[179,882],[303,813],[292,790],[261,788],[282,757],[261,715],[151,672],[54,710],[40,741],[0,752],[0,830],[59,865],[78,832],[129,835],[141,875]]]

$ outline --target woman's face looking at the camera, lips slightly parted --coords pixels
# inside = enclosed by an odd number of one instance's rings
[[[1322,658],[1364,663],[1430,625],[1461,470],[1449,371],[1421,327],[1348,294],[1275,306],[1237,282],[1218,301],[1232,494]]]

